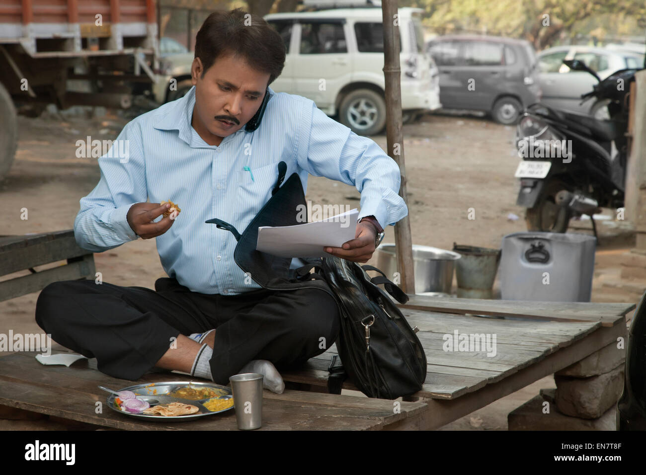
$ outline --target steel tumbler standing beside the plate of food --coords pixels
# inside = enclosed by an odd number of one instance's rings
[[[239,429],[251,430],[262,427],[262,379],[263,375],[258,373],[236,374],[229,377]]]

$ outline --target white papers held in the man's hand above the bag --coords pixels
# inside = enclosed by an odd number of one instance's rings
[[[326,257],[326,246],[340,248],[357,231],[357,208],[297,226],[258,227],[256,249],[280,257]]]

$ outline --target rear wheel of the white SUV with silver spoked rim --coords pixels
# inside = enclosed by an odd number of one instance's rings
[[[379,134],[386,125],[386,101],[373,90],[353,90],[341,101],[339,120],[357,135]]]

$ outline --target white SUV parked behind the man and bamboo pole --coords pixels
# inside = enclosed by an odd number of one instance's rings
[[[438,71],[424,51],[421,8],[399,8],[401,101],[404,121],[441,107]],[[362,135],[386,125],[381,8],[334,8],[264,17],[285,41],[276,92],[315,101],[328,116]]]

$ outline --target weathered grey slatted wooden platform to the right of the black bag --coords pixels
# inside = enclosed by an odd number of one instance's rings
[[[441,427],[553,374],[627,335],[625,315],[634,304],[479,301],[412,296],[400,306],[417,326],[428,362],[426,382],[411,400],[429,410],[393,428]],[[439,311],[422,310],[443,310]],[[451,311],[452,313],[446,313]],[[471,312],[471,313],[468,313]],[[488,315],[488,317],[478,317]],[[496,354],[445,352],[444,335],[496,335]],[[282,374],[294,387],[325,390],[336,346],[302,370]],[[346,389],[356,389],[351,383]]]

